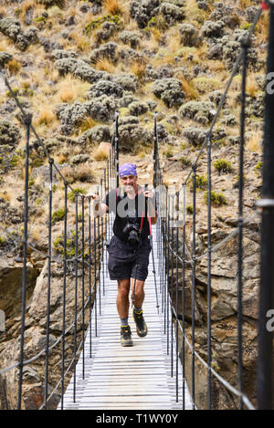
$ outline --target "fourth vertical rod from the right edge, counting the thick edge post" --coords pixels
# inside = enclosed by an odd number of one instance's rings
[[[191,371],[192,371],[192,405],[195,410],[195,223],[196,223],[196,169],[193,168],[193,248],[192,248],[192,304],[191,304],[191,318],[192,318],[192,358],[191,358]]]

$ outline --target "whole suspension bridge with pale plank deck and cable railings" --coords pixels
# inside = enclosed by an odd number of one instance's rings
[[[253,24],[248,30],[248,36],[242,41],[241,50],[237,57],[227,87],[220,99],[214,119],[206,133],[205,141],[192,163],[189,173],[179,191],[168,192],[164,185],[157,129],[157,113],[154,114],[154,145],[153,145],[153,187],[156,190],[157,209],[160,213],[158,223],[153,226],[153,246],[150,261],[149,277],[146,282],[146,298],[144,314],[148,322],[149,334],[146,338],[137,338],[133,334],[134,346],[121,349],[120,338],[117,337],[115,296],[116,285],[108,277],[106,241],[111,236],[113,218],[91,218],[91,199],[89,199],[89,214],[85,211],[85,196],[77,193],[68,183],[58,165],[50,157],[47,147],[37,135],[32,125],[31,117],[27,115],[15,91],[5,78],[5,85],[16,100],[26,124],[26,166],[25,166],[25,212],[23,243],[23,280],[22,280],[22,317],[20,335],[19,359],[10,366],[2,368],[1,376],[8,371],[17,373],[17,409],[21,410],[24,401],[24,368],[39,359],[44,360],[45,376],[43,380],[43,402],[39,409],[50,408],[50,400],[58,393],[58,410],[66,409],[198,409],[197,406],[197,362],[207,373],[206,393],[207,409],[213,409],[212,386],[213,380],[237,402],[237,408],[242,409],[271,409],[273,408],[273,361],[272,361],[272,331],[266,328],[269,320],[269,310],[273,308],[273,219],[274,219],[274,177],[271,169],[274,159],[274,149],[271,143],[274,139],[273,95],[266,92],[266,114],[264,135],[264,169],[263,189],[258,209],[261,213],[261,283],[259,287],[259,317],[258,317],[258,402],[251,402],[244,392],[243,385],[243,231],[245,226],[254,218],[243,217],[244,192],[244,149],[245,149],[245,109],[246,85],[248,72],[248,48],[250,37],[262,13],[269,8],[269,59],[267,73],[274,72],[274,5],[272,1],[263,3]],[[241,65],[241,115],[240,142],[238,154],[238,219],[237,227],[223,240],[212,245],[211,224],[211,167],[212,167],[212,134],[216,120],[222,110],[231,82],[238,73]],[[111,138],[111,151],[103,176],[99,183],[101,198],[112,188],[119,186],[119,114],[115,115],[115,127]],[[28,243],[28,186],[29,186],[29,139],[33,133],[39,146],[43,149],[48,160],[49,190],[48,190],[48,252],[47,252],[47,322],[46,346],[36,356],[26,360],[26,264]],[[202,154],[207,154],[207,249],[205,254],[197,255],[195,240],[196,231],[196,170]],[[61,257],[52,255],[52,198],[53,198],[53,169],[64,183],[64,228],[63,254]],[[187,183],[193,186],[192,214],[192,251],[189,252],[185,230],[185,192]],[[75,256],[68,255],[68,190],[74,194],[75,206]],[[79,214],[80,217],[79,217]],[[179,221],[179,216],[183,221]],[[80,226],[80,227],[79,227]],[[227,245],[229,239],[237,236],[237,381],[232,385],[215,370],[212,363],[212,331],[211,331],[211,279],[212,254],[221,246]],[[206,357],[202,357],[195,343],[195,299],[196,299],[196,266],[199,259],[207,260],[207,323],[206,323]],[[54,281],[52,263],[58,261],[63,266],[62,294],[62,332],[52,343],[50,341],[51,313],[50,297]],[[185,331],[185,271],[191,269],[191,334]],[[183,277],[179,281],[179,269]],[[71,275],[73,274],[73,275]],[[67,287],[68,276],[75,281],[74,317],[67,317]],[[87,285],[88,277],[88,285]],[[89,289],[88,296],[84,290]],[[79,302],[79,289],[82,298]],[[179,295],[180,293],[180,295]],[[181,307],[179,300],[181,299]],[[89,318],[87,322],[87,318]],[[69,337],[69,338],[68,338]],[[73,341],[71,342],[71,338]],[[181,339],[180,339],[181,338]],[[189,339],[190,338],[190,339]],[[69,342],[68,342],[69,339]],[[68,346],[69,343],[69,346]],[[50,357],[53,350],[60,346],[60,379],[56,386],[49,391],[49,378],[52,366]],[[69,349],[69,351],[68,351]],[[187,366],[187,367],[186,367]]]

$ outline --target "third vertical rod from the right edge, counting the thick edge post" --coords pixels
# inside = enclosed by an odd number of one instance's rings
[[[211,136],[207,140],[207,409],[211,409]]]

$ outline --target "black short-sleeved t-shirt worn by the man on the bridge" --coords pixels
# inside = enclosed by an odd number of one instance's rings
[[[141,188],[138,189],[140,190]],[[150,235],[150,225],[145,213],[145,199],[142,193],[137,193],[135,198],[130,199],[123,189],[113,189],[106,195],[104,204],[108,205],[109,213],[115,214],[113,233],[122,242],[127,242],[127,235],[123,232],[123,229],[126,224],[132,223],[133,218],[136,219],[136,223],[140,228],[142,224],[142,237]],[[154,211],[156,211],[155,197],[153,196],[149,200],[153,204]]]

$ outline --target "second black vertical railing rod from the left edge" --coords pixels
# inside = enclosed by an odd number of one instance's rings
[[[50,318],[50,287],[51,287],[51,216],[52,216],[52,165],[49,160],[49,193],[48,193],[48,250],[47,250],[47,320],[46,320],[46,362],[45,362],[45,393],[44,408],[47,410],[48,395],[48,359],[49,359],[49,318]]]

